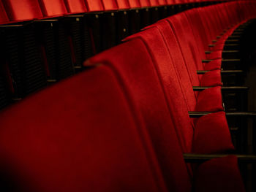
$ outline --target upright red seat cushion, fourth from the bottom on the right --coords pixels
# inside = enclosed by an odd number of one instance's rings
[[[201,77],[201,86],[222,86],[222,76],[220,74],[220,70],[213,70],[210,72],[206,72]]]

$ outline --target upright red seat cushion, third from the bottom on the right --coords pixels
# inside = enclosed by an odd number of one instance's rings
[[[220,86],[201,91],[197,98],[197,112],[223,111],[222,90]]]

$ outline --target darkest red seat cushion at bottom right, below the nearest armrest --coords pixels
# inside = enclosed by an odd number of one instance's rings
[[[195,174],[196,192],[245,192],[236,156],[214,158],[201,164]]]

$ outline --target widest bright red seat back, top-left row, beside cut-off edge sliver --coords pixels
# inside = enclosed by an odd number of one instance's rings
[[[10,20],[33,20],[43,17],[38,1],[2,0],[2,3]]]

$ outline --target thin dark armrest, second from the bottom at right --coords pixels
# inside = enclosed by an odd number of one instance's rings
[[[208,115],[213,112],[189,112],[190,118],[200,118],[203,115]],[[245,118],[256,118],[256,112],[225,112],[227,117],[245,117]]]

